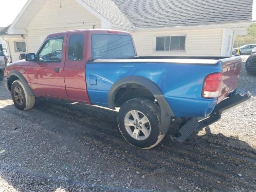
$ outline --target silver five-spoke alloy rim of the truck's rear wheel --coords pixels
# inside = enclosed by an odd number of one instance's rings
[[[128,134],[136,140],[145,140],[150,136],[150,122],[147,116],[138,110],[131,110],[125,115],[124,126]]]

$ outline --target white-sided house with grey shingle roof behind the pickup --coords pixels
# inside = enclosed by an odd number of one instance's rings
[[[53,32],[108,28],[132,33],[138,55],[230,56],[252,24],[253,0],[28,0],[0,32],[12,62]]]

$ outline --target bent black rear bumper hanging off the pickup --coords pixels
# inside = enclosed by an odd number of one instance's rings
[[[209,126],[210,124],[213,124],[214,122],[218,121],[222,114],[228,110],[231,110],[232,108],[235,108],[239,106],[240,104],[246,102],[251,98],[250,92],[248,92],[245,95],[235,94],[234,96],[231,96],[219,104],[216,105],[213,112],[210,114],[210,116],[204,120],[198,121],[198,118],[192,118],[188,120],[180,129],[179,129],[179,136],[173,137],[172,140],[176,142],[183,142],[192,134],[194,131],[202,130],[202,128]]]

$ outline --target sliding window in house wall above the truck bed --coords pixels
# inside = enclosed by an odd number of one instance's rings
[[[156,51],[185,51],[186,36],[156,37]]]

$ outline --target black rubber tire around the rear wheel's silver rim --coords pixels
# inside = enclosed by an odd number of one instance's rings
[[[139,112],[140,115],[143,114],[144,116],[146,116],[149,122],[150,133],[144,140],[136,140],[126,130],[126,127],[129,127],[131,129],[133,127],[124,125],[126,115],[132,110],[136,110]],[[155,104],[152,100],[145,98],[134,98],[128,100],[121,106],[118,112],[118,126],[122,136],[128,143],[142,149],[153,148],[162,141],[165,135],[160,134],[160,107],[157,104]],[[135,127],[136,126],[134,126],[134,130],[136,129]],[[138,135],[140,135],[141,132],[142,130],[139,132]]]

